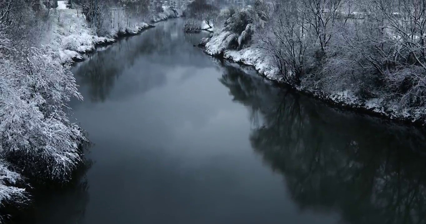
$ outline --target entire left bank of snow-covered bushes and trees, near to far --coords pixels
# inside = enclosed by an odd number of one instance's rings
[[[80,127],[68,119],[82,100],[70,63],[96,45],[182,16],[167,1],[0,0],[0,223],[30,201],[29,183],[63,184],[83,164]]]

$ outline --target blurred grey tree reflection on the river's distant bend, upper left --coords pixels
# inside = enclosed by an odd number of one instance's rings
[[[104,101],[109,97],[116,79],[136,63],[141,73],[152,73],[155,68],[153,64],[165,67],[211,65],[207,59],[200,60],[200,57],[207,58],[201,50],[193,49],[193,38],[199,40],[201,37],[195,34],[188,36],[182,32],[183,21],[170,20],[156,25],[157,27],[141,35],[123,39],[105,50],[91,54],[90,60],[75,67],[73,72],[78,83],[89,89],[89,96],[85,96],[86,98]],[[155,71],[155,75],[158,73]],[[165,80],[165,77],[162,79]]]

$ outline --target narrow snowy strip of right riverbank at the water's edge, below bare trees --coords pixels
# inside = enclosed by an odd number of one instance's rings
[[[279,69],[276,67],[273,57],[268,55],[262,48],[251,45],[240,50],[229,49],[227,46],[227,43],[229,43],[227,38],[230,38],[231,35],[232,33],[229,31],[219,31],[210,39],[204,40],[205,53],[211,56],[220,56],[224,59],[232,60],[233,62],[253,66],[261,76],[278,83],[286,83],[283,76],[279,73]],[[371,98],[366,100],[351,91],[328,93],[305,84],[303,78],[299,86],[291,86],[302,93],[337,106],[357,109],[371,115],[380,115],[391,120],[400,120],[421,126],[424,126],[426,123],[426,108],[424,107],[400,110],[397,106],[399,102],[392,99]]]

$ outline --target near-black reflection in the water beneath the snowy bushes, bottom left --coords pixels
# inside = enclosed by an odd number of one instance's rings
[[[83,146],[85,151],[90,143]],[[89,183],[86,172],[92,166],[91,160],[75,171],[71,182],[65,185],[37,186],[32,192],[31,207],[19,210],[12,216],[11,224],[76,224],[83,223],[89,202]]]

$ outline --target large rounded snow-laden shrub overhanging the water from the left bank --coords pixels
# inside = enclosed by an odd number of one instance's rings
[[[3,79],[19,86],[0,103],[1,154],[27,175],[66,181],[81,161],[78,144],[85,139],[64,111],[71,98],[81,99],[75,78],[51,52],[20,52],[22,60],[0,67]]]

